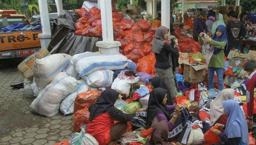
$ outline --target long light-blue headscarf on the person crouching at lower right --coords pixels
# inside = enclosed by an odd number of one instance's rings
[[[239,104],[234,99],[230,99],[222,101],[222,105],[225,114],[228,116],[225,135],[228,138],[241,137],[239,145],[248,145],[248,126]]]

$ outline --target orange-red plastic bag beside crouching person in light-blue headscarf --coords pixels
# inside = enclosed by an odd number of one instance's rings
[[[206,145],[219,143],[221,141],[221,138],[211,131],[213,128],[218,129],[218,126],[213,126],[206,133],[204,133],[204,139],[206,141]]]

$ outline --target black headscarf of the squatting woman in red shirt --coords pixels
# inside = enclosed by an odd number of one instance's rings
[[[97,101],[89,107],[90,118],[89,120],[92,121],[93,118],[101,115],[105,112],[114,107],[114,103],[118,99],[119,93],[114,89],[106,89],[103,93],[99,96]]]

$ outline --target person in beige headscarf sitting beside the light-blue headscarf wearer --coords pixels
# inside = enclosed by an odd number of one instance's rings
[[[211,121],[211,125],[215,125],[216,123],[220,123],[223,125],[227,124],[228,116],[224,114],[224,108],[222,105],[222,101],[234,99],[234,89],[223,89],[220,94],[211,101],[209,115],[206,111],[199,112],[199,118],[201,121],[208,120]],[[224,130],[221,130],[222,132]]]

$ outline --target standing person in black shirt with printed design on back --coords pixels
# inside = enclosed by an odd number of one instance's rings
[[[242,22],[237,21],[237,13],[235,11],[228,12],[228,23],[226,32],[228,36],[228,47],[225,51],[225,56],[228,56],[230,49],[241,49],[242,39],[246,36],[246,27]]]

